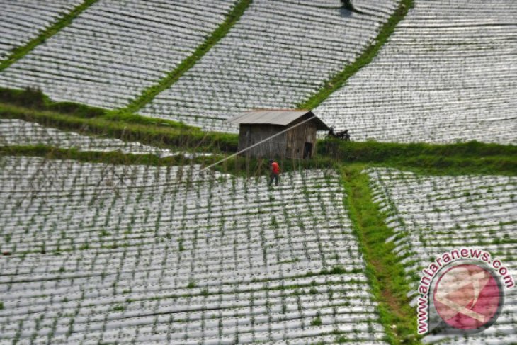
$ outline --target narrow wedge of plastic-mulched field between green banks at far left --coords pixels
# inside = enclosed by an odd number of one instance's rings
[[[89,137],[76,132],[64,132],[18,119],[0,118],[0,146],[47,145],[64,149],[76,148],[81,151],[120,151],[132,154],[157,154],[171,156],[169,149],[159,149],[140,142],[124,142],[120,139]]]

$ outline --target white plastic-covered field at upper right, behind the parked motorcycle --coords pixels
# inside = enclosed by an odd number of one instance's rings
[[[315,113],[354,140],[517,143],[516,17],[513,0],[415,0]]]

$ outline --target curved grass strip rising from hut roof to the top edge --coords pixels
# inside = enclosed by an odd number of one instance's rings
[[[402,21],[402,19],[407,15],[409,9],[411,9],[413,6],[414,0],[400,1],[397,9],[394,11],[392,16],[390,16],[390,19],[388,19],[388,21],[382,26],[375,40],[373,40],[373,42],[370,43],[368,47],[366,47],[363,54],[361,54],[352,64],[348,64],[341,72],[335,74],[334,77],[331,77],[331,79],[326,81],[324,86],[322,86],[322,88],[319,89],[315,94],[309,96],[307,100],[300,102],[297,105],[297,108],[316,108],[319,106],[319,104],[325,101],[326,98],[329,98],[329,96],[334,91],[340,89],[341,86],[346,83],[348,78],[352,77],[353,74],[356,74],[359,69],[369,64],[375,55],[377,55],[382,45],[384,45],[388,38],[390,38],[399,21]]]

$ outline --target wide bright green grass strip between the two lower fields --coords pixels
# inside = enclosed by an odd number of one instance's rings
[[[373,202],[368,175],[362,164],[341,168],[346,191],[344,203],[366,264],[375,300],[379,303],[380,322],[390,344],[421,344],[416,334],[416,312],[409,305],[410,288],[404,267],[394,255],[394,232],[385,224],[385,215]]]

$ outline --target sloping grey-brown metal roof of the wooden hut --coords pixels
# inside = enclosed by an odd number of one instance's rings
[[[314,115],[312,111],[289,111],[289,110],[267,110],[267,111],[246,111],[228,120],[229,123],[241,125],[280,125],[287,126],[303,115]],[[329,127],[322,120],[314,115],[318,130],[329,130]]]

